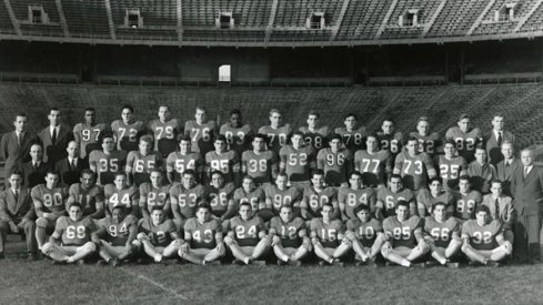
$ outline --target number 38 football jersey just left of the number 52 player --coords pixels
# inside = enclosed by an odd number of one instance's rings
[[[254,151],[245,151],[241,155],[241,163],[254,183],[272,182],[272,167],[278,166],[278,157],[273,151],[263,151],[255,154]]]

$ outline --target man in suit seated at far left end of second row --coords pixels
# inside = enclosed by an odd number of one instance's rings
[[[0,193],[0,258],[3,258],[8,233],[24,233],[28,258],[33,260],[37,257],[36,212],[30,191],[21,186],[20,172],[12,172],[8,181],[10,187]]]

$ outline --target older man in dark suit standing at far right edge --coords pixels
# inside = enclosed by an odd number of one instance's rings
[[[540,231],[543,211],[543,169],[533,164],[533,152],[523,150],[523,166],[517,167],[511,180],[515,223],[514,256],[519,263],[534,263],[541,260]]]

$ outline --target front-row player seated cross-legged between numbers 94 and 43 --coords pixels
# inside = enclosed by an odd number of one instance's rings
[[[165,218],[162,206],[155,205],[151,210],[151,218],[141,218],[138,224],[138,241],[143,245],[143,251],[155,263],[163,257],[175,256],[180,246],[184,243],[177,233],[172,220]]]

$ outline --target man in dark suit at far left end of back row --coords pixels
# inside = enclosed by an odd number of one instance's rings
[[[0,159],[6,161],[6,173],[17,170],[23,162],[30,161],[30,146],[39,143],[39,138],[27,131],[28,116],[26,113],[18,113],[13,121],[16,130],[2,135],[0,140]],[[6,189],[9,187],[9,180],[6,179]]]

